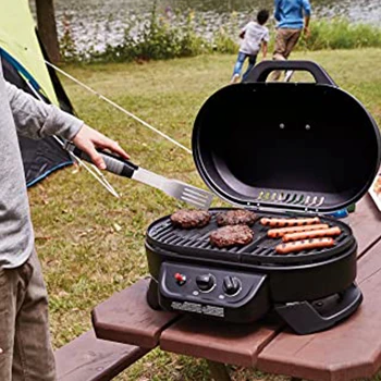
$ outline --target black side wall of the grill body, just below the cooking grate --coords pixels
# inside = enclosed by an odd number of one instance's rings
[[[269,266],[246,262],[179,255],[172,251],[151,247],[146,243],[148,268],[151,276],[159,282],[163,263],[187,267],[196,266],[204,273],[224,270],[225,274],[241,271],[250,274],[268,275],[270,298],[273,303],[303,302],[323,298],[346,290],[356,279],[357,244],[333,258],[318,263],[303,266]],[[222,280],[220,280],[222,282]],[[180,288],[179,297],[184,297],[184,288]],[[217,295],[218,296],[218,295]]]

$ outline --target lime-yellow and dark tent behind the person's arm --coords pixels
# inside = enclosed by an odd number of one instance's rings
[[[35,30],[27,0],[0,0],[0,57],[7,81],[48,103],[74,113]],[[27,186],[73,163],[59,143],[48,137],[32,140],[19,136]]]

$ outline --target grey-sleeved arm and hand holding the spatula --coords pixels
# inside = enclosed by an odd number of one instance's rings
[[[59,135],[72,140],[100,169],[106,169],[106,165],[96,148],[110,149],[128,159],[128,155],[116,142],[85,125],[82,120],[56,106],[35,99],[8,82],[5,82],[5,89],[13,119],[21,135],[33,139]]]

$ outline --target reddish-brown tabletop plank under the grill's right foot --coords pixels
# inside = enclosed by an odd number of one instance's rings
[[[348,320],[318,334],[285,331],[259,355],[261,370],[317,381],[373,376],[381,366],[381,242],[359,260],[364,303]]]

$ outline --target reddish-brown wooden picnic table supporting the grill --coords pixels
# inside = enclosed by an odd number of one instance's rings
[[[359,246],[364,302],[328,331],[300,336],[276,319],[242,325],[155,311],[148,280],[140,280],[94,309],[97,337],[205,358],[218,381],[230,380],[224,364],[317,381],[372,377],[381,367],[381,213],[367,195],[347,222]]]

